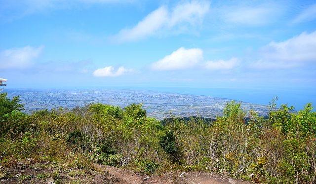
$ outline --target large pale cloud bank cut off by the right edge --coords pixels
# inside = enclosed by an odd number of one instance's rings
[[[272,41],[260,49],[259,58],[250,64],[251,68],[289,69],[316,62],[316,31],[281,42]]]

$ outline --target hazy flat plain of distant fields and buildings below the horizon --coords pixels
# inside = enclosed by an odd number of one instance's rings
[[[231,99],[203,95],[185,95],[145,90],[34,90],[6,89],[8,97],[20,95],[25,111],[75,108],[89,103],[103,103],[124,108],[131,103],[143,103],[149,117],[161,120],[171,115],[176,117],[201,116],[216,118]],[[240,102],[245,110],[255,110],[260,116],[268,115],[264,105]]]

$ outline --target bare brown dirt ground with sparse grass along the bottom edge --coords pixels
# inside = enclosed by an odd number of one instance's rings
[[[63,168],[47,163],[21,161],[0,166],[0,184],[252,184],[206,172],[168,172],[142,175],[122,168],[93,165],[92,169]]]

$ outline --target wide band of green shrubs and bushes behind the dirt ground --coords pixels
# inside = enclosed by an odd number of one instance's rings
[[[142,104],[124,110],[91,104],[28,115],[19,102],[19,97],[1,94],[0,164],[5,167],[30,157],[80,170],[94,162],[147,174],[203,170],[257,183],[316,183],[316,112],[311,104],[295,112],[286,104],[277,108],[274,99],[264,119],[232,101],[212,123],[174,118],[162,126],[146,116]],[[59,169],[36,177],[62,182]]]

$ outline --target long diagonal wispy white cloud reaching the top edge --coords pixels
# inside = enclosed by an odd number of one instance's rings
[[[171,32],[180,26],[182,30],[184,30],[183,27],[194,27],[202,22],[208,10],[209,2],[198,0],[178,4],[172,10],[161,6],[148,14],[136,26],[121,30],[112,39],[117,42],[132,41],[157,35],[160,32]]]

